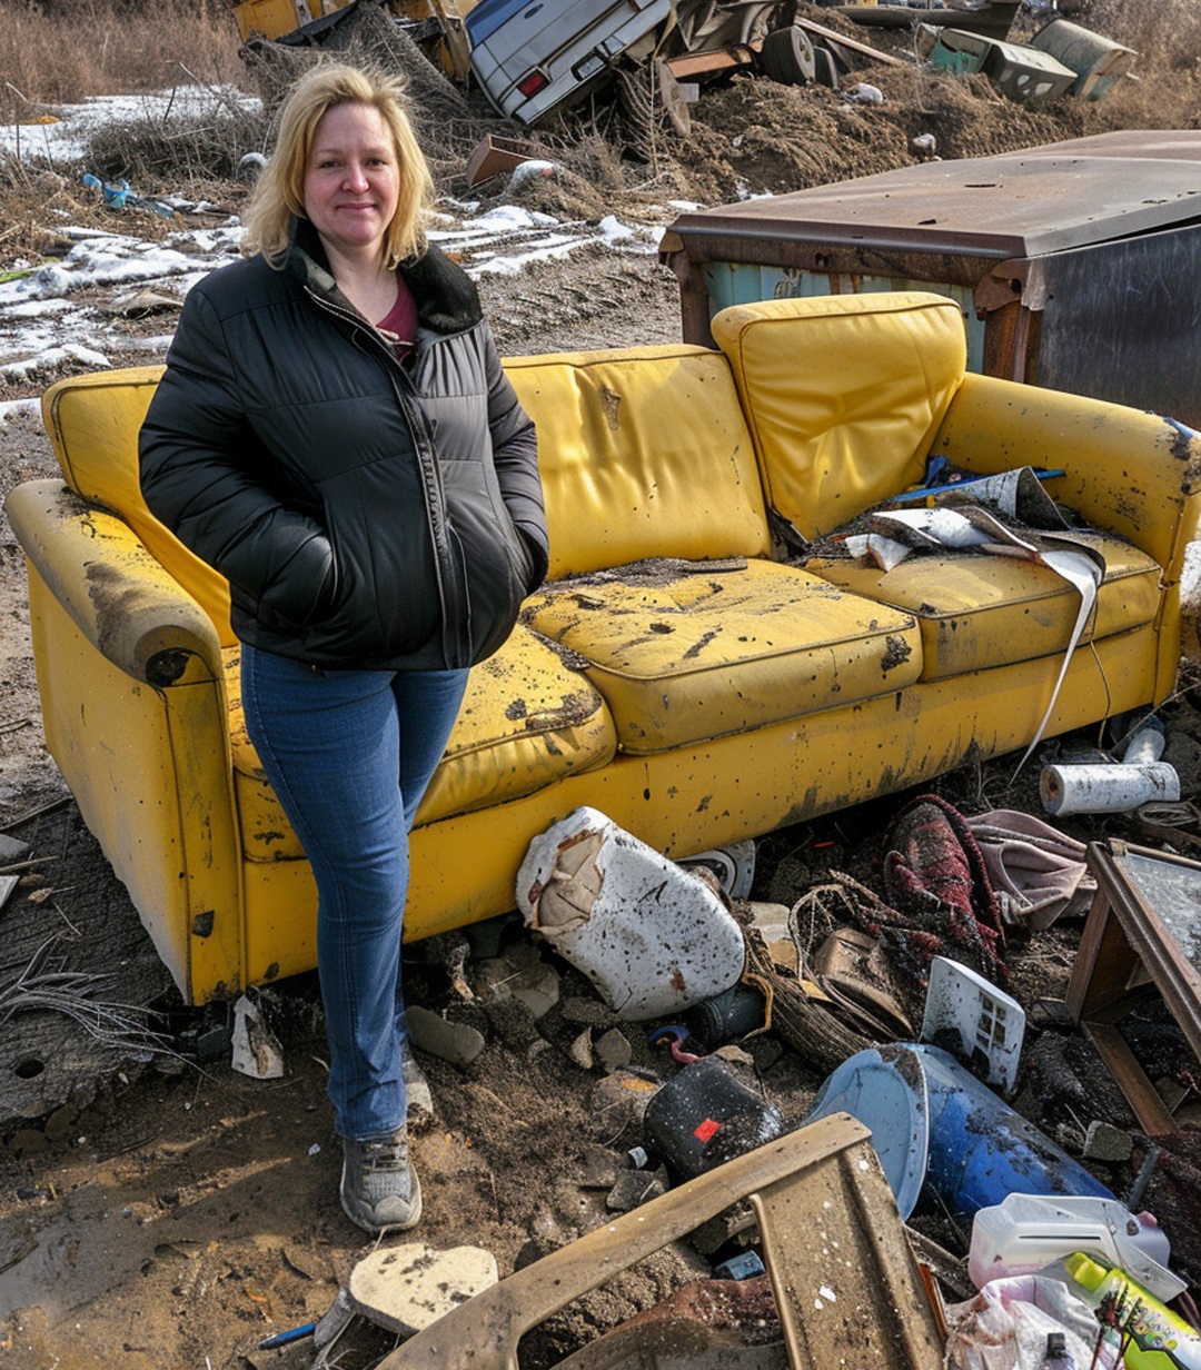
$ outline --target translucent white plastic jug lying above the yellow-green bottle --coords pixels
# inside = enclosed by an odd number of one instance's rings
[[[1072,1252],[1104,1256],[1149,1293],[1167,1302],[1187,1284],[1167,1269],[1171,1248],[1146,1214],[1116,1199],[1012,1193],[972,1219],[968,1275],[976,1289],[990,1280],[1024,1275]]]

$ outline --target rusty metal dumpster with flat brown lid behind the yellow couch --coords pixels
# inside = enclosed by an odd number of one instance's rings
[[[1127,130],[682,214],[683,338],[727,304],[924,289],[968,366],[1201,427],[1201,132]]]

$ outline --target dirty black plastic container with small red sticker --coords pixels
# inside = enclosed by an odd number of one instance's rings
[[[692,1180],[785,1130],[783,1114],[705,1056],[670,1080],[646,1106],[646,1144],[678,1180]]]

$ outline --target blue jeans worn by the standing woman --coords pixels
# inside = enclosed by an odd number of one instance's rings
[[[320,671],[242,647],[251,741],[316,878],[329,1095],[342,1137],[404,1125],[408,830],[466,684],[466,670]]]

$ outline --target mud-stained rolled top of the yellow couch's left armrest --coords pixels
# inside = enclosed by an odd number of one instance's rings
[[[114,666],[156,689],[222,678],[212,621],[119,518],[55,480],[18,485],[4,512],[55,599]]]

